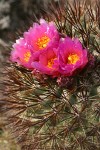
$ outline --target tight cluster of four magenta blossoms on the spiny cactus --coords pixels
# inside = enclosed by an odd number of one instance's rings
[[[59,41],[60,40],[60,41]],[[72,76],[88,62],[87,50],[78,39],[61,38],[53,22],[40,19],[24,37],[16,40],[11,61],[43,74]]]

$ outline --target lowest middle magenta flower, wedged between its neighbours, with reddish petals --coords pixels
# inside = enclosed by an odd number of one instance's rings
[[[53,48],[46,49],[40,53],[39,60],[33,62],[32,66],[42,74],[52,75],[53,77],[58,76],[59,64],[57,50]]]

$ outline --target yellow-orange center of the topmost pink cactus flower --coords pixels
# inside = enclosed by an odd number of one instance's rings
[[[42,38],[39,38],[36,42],[37,46],[42,49],[45,48],[50,41],[50,38],[47,36],[43,36]]]

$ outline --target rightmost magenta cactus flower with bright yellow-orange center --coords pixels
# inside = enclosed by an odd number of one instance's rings
[[[82,48],[78,39],[69,37],[62,39],[59,44],[60,73],[66,76],[73,75],[76,70],[81,70],[88,62],[87,50]]]

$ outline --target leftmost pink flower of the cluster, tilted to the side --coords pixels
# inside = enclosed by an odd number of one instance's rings
[[[26,68],[32,68],[32,53],[29,45],[27,45],[27,42],[23,38],[16,40],[16,43],[13,45],[10,59],[12,62],[17,62],[19,65],[23,65]]]

